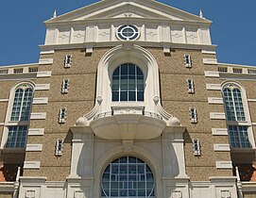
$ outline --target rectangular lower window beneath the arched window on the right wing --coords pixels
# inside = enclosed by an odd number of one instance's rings
[[[230,146],[232,148],[249,148],[247,126],[229,125]]]

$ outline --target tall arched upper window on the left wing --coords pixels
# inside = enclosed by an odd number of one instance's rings
[[[26,86],[15,91],[10,121],[28,121],[32,105],[33,91]]]

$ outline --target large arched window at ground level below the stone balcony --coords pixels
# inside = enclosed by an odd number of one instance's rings
[[[154,176],[137,157],[113,160],[102,175],[102,197],[154,197]]]

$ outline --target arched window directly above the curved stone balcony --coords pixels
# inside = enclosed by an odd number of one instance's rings
[[[141,69],[125,63],[112,74],[112,101],[144,101],[144,74]]]

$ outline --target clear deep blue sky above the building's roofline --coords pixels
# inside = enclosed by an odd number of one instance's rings
[[[114,0],[112,0],[114,1]],[[143,0],[142,0],[143,1]],[[211,20],[218,62],[256,66],[255,0],[158,0]],[[35,63],[43,44],[43,21],[97,0],[1,0],[0,65]]]

